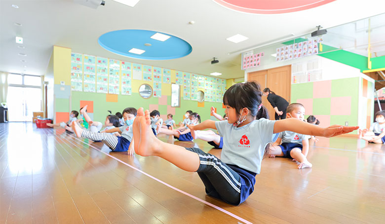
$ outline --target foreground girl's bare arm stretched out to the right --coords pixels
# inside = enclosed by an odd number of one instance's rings
[[[273,133],[290,130],[300,134],[334,137],[340,134],[349,133],[358,128],[359,128],[358,126],[346,127],[342,125],[332,125],[328,128],[322,128],[322,127],[319,127],[318,125],[312,125],[296,118],[287,118],[287,119],[276,121],[274,123]]]

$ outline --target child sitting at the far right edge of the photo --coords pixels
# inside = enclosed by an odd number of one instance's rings
[[[376,122],[369,129],[358,130],[358,138],[364,139],[370,143],[384,144],[385,142],[385,111],[378,111]]]

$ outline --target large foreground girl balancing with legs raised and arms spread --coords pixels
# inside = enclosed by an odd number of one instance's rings
[[[179,168],[197,172],[206,193],[239,205],[254,191],[255,176],[268,155],[273,133],[291,130],[302,134],[332,137],[358,127],[332,126],[321,128],[298,119],[270,121],[261,104],[262,92],[256,82],[236,83],[223,96],[227,121],[206,120],[192,130],[217,129],[223,136],[221,159],[198,148],[184,148],[157,139],[150,128],[150,113],[139,108],[133,125],[135,153],[158,156]],[[256,120],[257,118],[257,120]]]

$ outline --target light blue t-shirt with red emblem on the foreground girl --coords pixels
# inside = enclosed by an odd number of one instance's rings
[[[275,121],[261,118],[237,128],[227,120],[216,121],[223,137],[221,160],[259,174],[266,145],[273,137]]]

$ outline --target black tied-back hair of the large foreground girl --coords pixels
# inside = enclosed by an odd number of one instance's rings
[[[261,105],[262,95],[261,86],[257,82],[236,83],[223,95],[223,103],[234,108],[236,115],[240,115],[239,112],[246,107],[256,120],[269,118],[268,110]]]

